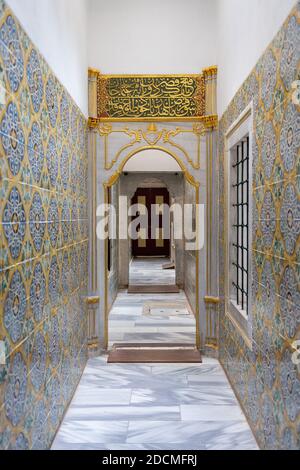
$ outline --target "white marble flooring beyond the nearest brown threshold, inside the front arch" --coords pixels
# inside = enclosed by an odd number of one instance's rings
[[[175,272],[163,270],[166,259],[136,259],[130,266],[130,282],[174,284]],[[145,306],[152,305],[151,314]],[[184,292],[136,294],[122,291],[109,316],[109,346],[114,343],[195,344],[196,321]]]

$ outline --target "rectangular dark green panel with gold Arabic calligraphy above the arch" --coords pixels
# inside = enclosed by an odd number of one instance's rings
[[[205,74],[102,75],[98,72],[97,118],[102,122],[194,121],[205,115],[205,77]]]

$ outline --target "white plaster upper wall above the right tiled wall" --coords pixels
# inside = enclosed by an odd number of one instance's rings
[[[296,0],[217,1],[218,112],[221,117]]]

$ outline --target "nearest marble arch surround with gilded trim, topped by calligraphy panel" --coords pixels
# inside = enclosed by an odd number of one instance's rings
[[[164,100],[163,98],[166,97],[163,93],[159,95],[160,92],[155,92],[156,83],[158,83],[156,78],[160,78],[159,84],[164,87],[164,93],[166,89],[170,90],[174,84],[179,83],[179,92],[175,96],[178,105],[182,98],[186,98],[180,96],[180,93],[184,95],[186,92],[184,84],[191,83],[179,80],[179,77],[185,76],[174,76],[173,80],[171,76],[168,76],[168,79],[163,76],[103,76],[96,70],[89,70],[89,145],[93,188],[90,295],[91,297],[97,296],[99,299],[97,309],[92,313],[92,319],[94,319],[92,323],[97,325],[94,337],[99,338],[98,342],[102,347],[107,347],[108,340],[108,278],[105,270],[107,248],[105,243],[103,244],[95,237],[97,224],[95,208],[98,204],[105,202],[107,189],[118,181],[126,162],[145,150],[160,150],[171,155],[182,168],[186,180],[195,188],[197,201],[205,201],[207,204],[207,243],[205,252],[197,255],[196,282],[197,286],[200,286],[196,302],[197,345],[200,347],[201,343],[201,348],[204,349],[206,346],[215,347],[217,344],[211,334],[211,325],[217,322],[218,315],[218,289],[216,287],[218,279],[214,268],[215,257],[211,255],[217,250],[217,240],[214,235],[217,226],[217,212],[214,207],[214,172],[217,164],[216,129],[218,127],[217,67],[210,67],[203,70],[202,74],[194,75],[200,80],[199,83],[201,82],[202,94],[197,95],[195,92],[194,96],[189,98],[196,97],[200,100],[201,96],[201,105],[192,106],[190,112],[184,115],[177,113],[176,106],[172,108],[174,102],[171,101],[170,96],[169,100]],[[172,86],[168,88],[170,83]],[[111,106],[107,105],[107,96],[105,96],[107,86],[109,86],[110,99],[113,99]],[[147,92],[145,92],[147,96],[144,97],[148,100],[146,100],[147,112],[141,108],[145,103],[142,101],[143,97],[140,96],[141,90]],[[197,90],[199,92],[199,85]],[[170,91],[171,95],[172,93],[174,98],[176,93]],[[155,102],[155,99],[158,101]],[[117,103],[117,114],[114,111],[116,109],[114,103]],[[159,113],[158,108],[151,103],[160,106]],[[133,110],[136,111],[134,115]],[[204,265],[207,266],[207,279],[213,279],[212,283],[202,279]],[[96,343],[97,341],[93,344]]]

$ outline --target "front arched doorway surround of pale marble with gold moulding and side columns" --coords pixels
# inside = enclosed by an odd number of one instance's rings
[[[103,262],[106,257],[105,243],[97,240],[95,236],[98,222],[96,208],[99,204],[103,204],[104,200],[107,201],[108,188],[113,187],[119,181],[126,163],[132,157],[144,150],[161,150],[173,157],[179,164],[185,182],[191,187],[189,195],[194,197],[193,193],[195,193],[196,199],[205,207],[207,226],[205,242],[203,249],[190,260],[192,263],[197,263],[198,268],[196,279],[189,279],[189,281],[194,281],[190,282],[189,295],[196,304],[198,320],[199,310],[201,310],[198,343],[200,344],[201,337],[202,349],[208,347],[215,350],[217,340],[211,325],[217,325],[219,304],[217,257],[213,256],[218,252],[219,246],[217,191],[214,190],[218,185],[216,77],[217,68],[209,67],[199,76],[180,78],[184,82],[187,78],[195,81],[197,91],[193,99],[197,106],[196,112],[192,112],[190,117],[177,115],[175,103],[172,113],[170,109],[164,109],[163,116],[157,115],[149,106],[148,114],[145,115],[143,98],[138,100],[138,103],[136,102],[137,113],[134,113],[134,116],[130,114],[126,106],[122,109],[118,108],[118,115],[114,115],[110,110],[118,105],[117,101],[122,94],[120,86],[123,84],[124,77],[103,76],[96,70],[90,70],[89,146],[92,190],[89,257],[89,295],[91,298],[89,304],[91,305],[91,324],[95,324],[93,328],[95,334],[92,335],[92,345],[95,344],[95,347],[99,344],[102,348],[107,344],[106,312],[110,308]],[[153,86],[157,86],[157,81],[160,81],[160,77],[157,76],[131,76],[130,78],[131,80],[127,83],[129,94],[132,87],[144,82],[145,79],[151,78]],[[171,80],[172,86],[178,83],[171,77],[164,78]],[[178,76],[176,78],[178,79]],[[110,85],[115,88],[112,100],[107,94]],[[163,103],[167,103],[165,92],[162,97]],[[108,99],[105,101],[105,98]]]

